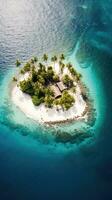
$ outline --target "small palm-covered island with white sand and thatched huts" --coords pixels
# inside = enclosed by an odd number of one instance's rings
[[[27,117],[45,124],[87,120],[88,101],[82,75],[64,54],[31,58],[23,66],[16,61],[11,97]]]

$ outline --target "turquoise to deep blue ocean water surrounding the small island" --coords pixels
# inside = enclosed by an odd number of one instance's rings
[[[10,99],[17,58],[62,52],[97,112],[92,137],[75,144]],[[0,200],[10,199],[112,199],[112,0],[0,0]]]

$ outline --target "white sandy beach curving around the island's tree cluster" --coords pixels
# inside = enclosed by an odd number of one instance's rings
[[[55,65],[55,67],[58,70],[58,66]],[[27,79],[27,77],[28,73],[22,75],[19,81]],[[63,111],[61,108],[57,110],[56,107],[46,108],[44,104],[41,104],[40,106],[34,106],[31,97],[23,93],[19,87],[17,87],[17,84],[11,91],[11,97],[13,103],[19,107],[27,117],[38,121],[39,123],[58,123],[61,121],[64,122],[67,120],[78,120],[84,118],[83,113],[86,109],[86,103],[81,96],[79,86],[76,87],[76,91],[76,94],[74,94],[75,103],[68,111]]]

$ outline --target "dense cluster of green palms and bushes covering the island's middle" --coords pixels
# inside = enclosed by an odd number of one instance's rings
[[[53,69],[53,66],[48,66],[48,55],[44,54],[42,57],[43,63],[37,63],[38,58],[33,57],[29,62],[27,62],[23,68],[21,68],[20,73],[25,74],[29,72],[29,78],[27,80],[22,80],[18,82],[18,85],[22,92],[29,94],[32,98],[32,102],[35,106],[39,106],[44,103],[46,107],[52,108],[54,105],[61,106],[64,110],[68,110],[71,106],[73,106],[75,99],[72,96],[72,93],[76,92],[76,87],[74,86],[74,81],[79,81],[81,78],[81,74],[77,73],[73,68],[71,63],[65,65],[64,54],[61,54],[59,57],[59,61],[57,56],[53,56],[51,58],[52,62],[58,62],[61,70],[60,73],[57,74]],[[36,63],[36,65],[35,65]],[[64,68],[67,67],[71,73],[63,75]],[[13,81],[17,81],[15,77],[13,77]],[[65,85],[65,89],[60,89],[61,86]],[[54,85],[55,89],[51,89],[52,85]],[[57,88],[57,89],[56,89]],[[64,88],[64,87],[62,87]],[[64,90],[64,91],[63,91]],[[60,92],[61,95],[56,99],[56,92]]]

